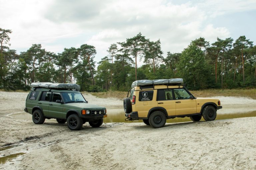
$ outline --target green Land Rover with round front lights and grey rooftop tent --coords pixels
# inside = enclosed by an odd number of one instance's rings
[[[71,130],[79,130],[86,122],[100,127],[107,117],[105,107],[88,104],[77,84],[31,83],[30,87],[24,111],[32,114],[35,124],[53,118],[60,124],[67,122]]]

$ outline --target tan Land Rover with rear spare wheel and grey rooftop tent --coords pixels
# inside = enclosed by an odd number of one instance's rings
[[[124,98],[126,120],[142,119],[146,125],[161,128],[166,119],[190,117],[192,121],[213,121],[219,99],[196,98],[184,86],[183,79],[138,80]]]

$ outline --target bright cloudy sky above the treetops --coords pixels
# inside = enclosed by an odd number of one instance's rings
[[[244,35],[256,44],[256,0],[0,0],[0,16],[18,53],[39,43],[55,53],[89,44],[96,62],[139,32],[160,39],[164,57],[200,37],[213,43]]]

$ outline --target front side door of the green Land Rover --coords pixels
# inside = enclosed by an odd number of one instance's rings
[[[66,119],[66,113],[63,113],[63,104],[56,103],[56,100],[62,100],[60,93],[53,92],[52,100],[49,103],[49,116]]]

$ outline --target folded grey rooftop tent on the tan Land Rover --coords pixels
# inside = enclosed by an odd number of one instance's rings
[[[134,88],[135,86],[181,84],[181,83],[183,83],[182,78],[158,79],[158,80],[137,80],[132,83],[132,88]]]

